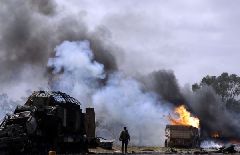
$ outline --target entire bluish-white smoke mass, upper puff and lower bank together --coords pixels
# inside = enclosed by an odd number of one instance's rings
[[[153,92],[144,92],[141,84],[121,72],[105,79],[104,66],[94,61],[88,41],[64,41],[56,47],[53,88],[64,91],[93,106],[97,136],[114,138],[127,126],[132,145],[162,145],[169,110]],[[107,80],[101,84],[101,80]]]

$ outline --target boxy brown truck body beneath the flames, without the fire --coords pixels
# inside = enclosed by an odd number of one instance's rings
[[[165,147],[196,148],[200,146],[199,129],[186,125],[167,125]]]

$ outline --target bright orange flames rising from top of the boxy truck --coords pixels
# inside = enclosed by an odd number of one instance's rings
[[[169,116],[169,120],[171,121],[172,125],[188,125],[199,128],[199,119],[192,117],[184,105],[177,107],[174,112],[179,116],[179,118],[174,119]]]

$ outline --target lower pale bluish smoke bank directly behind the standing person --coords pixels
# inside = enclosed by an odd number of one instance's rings
[[[107,85],[94,94],[93,103],[101,118],[100,129],[108,129],[114,138],[127,126],[132,144],[163,144],[167,111],[159,106],[156,94],[142,92],[136,80],[121,73],[111,75]]]

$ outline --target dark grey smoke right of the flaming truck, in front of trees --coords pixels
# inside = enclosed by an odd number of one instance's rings
[[[223,138],[240,138],[239,114],[230,112],[225,103],[211,87],[203,87],[192,93],[186,92],[188,107],[201,123],[202,136],[211,137],[213,132],[219,132]]]

